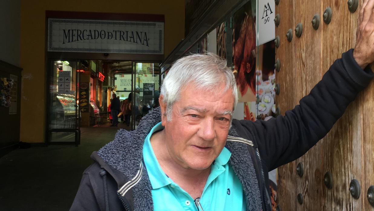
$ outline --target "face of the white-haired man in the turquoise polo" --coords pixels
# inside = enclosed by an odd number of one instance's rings
[[[172,119],[162,116],[165,146],[171,158],[184,168],[206,169],[221,153],[230,128],[234,98],[232,90],[221,93],[187,86],[173,105]],[[163,97],[163,96],[162,96]],[[165,113],[166,104],[162,103]]]

